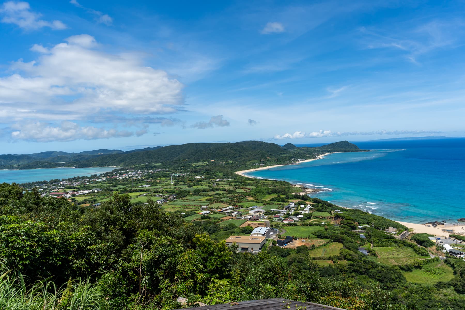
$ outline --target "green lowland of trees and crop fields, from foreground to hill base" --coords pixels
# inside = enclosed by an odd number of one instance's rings
[[[402,224],[296,195],[301,188],[287,182],[235,174],[243,165],[185,162],[41,188],[1,184],[0,306],[168,310],[284,297],[348,310],[463,309],[465,262],[431,258],[427,236],[401,240]],[[296,210],[286,213],[290,203]],[[303,213],[307,204],[312,209]],[[236,219],[223,207],[244,214],[263,207],[263,217]],[[300,220],[273,222],[272,210]],[[255,254],[226,246],[229,236],[259,225],[299,240],[280,247],[269,238]]]

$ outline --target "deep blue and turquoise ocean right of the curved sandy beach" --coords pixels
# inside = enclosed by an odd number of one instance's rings
[[[465,218],[465,138],[354,143],[371,152],[335,153],[246,175],[319,187],[325,191],[312,197],[399,221]]]

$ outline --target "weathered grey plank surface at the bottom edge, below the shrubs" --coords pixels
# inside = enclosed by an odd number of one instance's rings
[[[288,300],[284,298],[271,298],[271,299],[259,299],[259,300],[249,300],[241,301],[237,303],[222,303],[215,304],[211,306],[202,306],[199,309],[201,310],[283,310],[283,309],[297,309],[297,307],[302,306],[305,310],[345,310],[342,308],[336,308],[332,306],[325,306],[319,303],[310,303],[310,302],[299,302]],[[180,309],[178,309],[180,310]]]

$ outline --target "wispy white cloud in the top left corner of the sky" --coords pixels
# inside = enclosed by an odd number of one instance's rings
[[[66,29],[66,25],[60,20],[42,20],[42,14],[31,11],[28,2],[7,1],[0,7],[2,23],[14,24],[26,30],[36,30],[49,27],[53,30]]]

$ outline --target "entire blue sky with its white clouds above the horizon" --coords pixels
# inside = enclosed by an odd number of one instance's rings
[[[464,7],[6,1],[1,153],[464,136]]]

